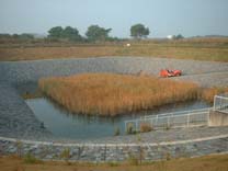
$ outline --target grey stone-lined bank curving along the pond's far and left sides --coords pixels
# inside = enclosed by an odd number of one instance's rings
[[[41,122],[19,95],[18,89],[42,77],[69,76],[81,72],[137,73],[144,70],[158,76],[161,68],[181,69],[183,77],[203,87],[228,86],[228,64],[145,57],[101,57],[0,62],[0,136],[50,137]]]

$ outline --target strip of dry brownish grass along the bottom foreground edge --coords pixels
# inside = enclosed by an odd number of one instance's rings
[[[228,155],[207,156],[200,158],[171,159],[132,166],[119,164],[92,164],[92,163],[66,163],[46,161],[43,163],[25,163],[16,157],[0,157],[1,171],[227,171]]]

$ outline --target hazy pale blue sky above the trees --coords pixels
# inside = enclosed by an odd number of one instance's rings
[[[228,0],[0,0],[0,33],[47,33],[53,26],[112,29],[129,37],[132,25],[149,37],[228,35]]]

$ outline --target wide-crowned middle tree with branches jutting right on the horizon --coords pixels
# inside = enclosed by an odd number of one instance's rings
[[[109,38],[109,33],[112,29],[100,27],[99,25],[91,25],[86,33],[89,41],[105,41]]]

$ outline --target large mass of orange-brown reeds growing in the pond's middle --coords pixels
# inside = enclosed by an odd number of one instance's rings
[[[75,113],[117,115],[194,100],[197,86],[155,77],[83,73],[45,78],[41,90]]]

